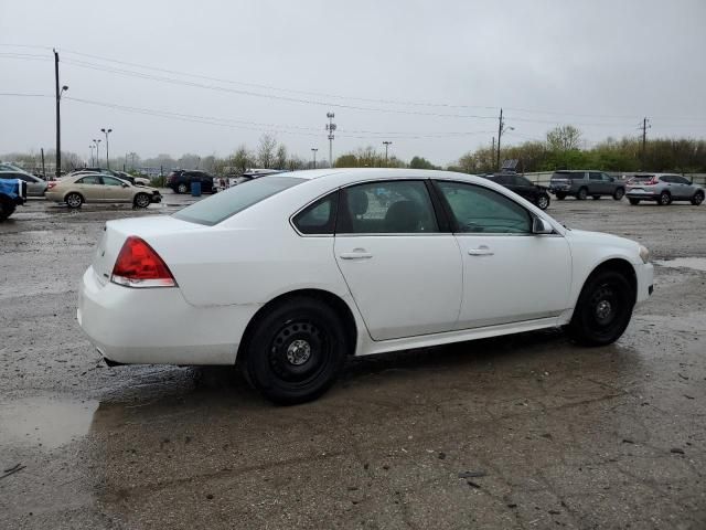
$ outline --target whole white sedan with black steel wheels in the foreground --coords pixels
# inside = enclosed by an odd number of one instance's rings
[[[566,229],[488,179],[298,171],[109,221],[77,317],[109,363],[237,361],[298,403],[347,356],[557,327],[608,344],[652,274],[638,243]]]

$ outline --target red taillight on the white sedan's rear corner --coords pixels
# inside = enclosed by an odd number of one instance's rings
[[[129,236],[113,267],[110,282],[126,287],[175,287],[164,261],[143,240]]]

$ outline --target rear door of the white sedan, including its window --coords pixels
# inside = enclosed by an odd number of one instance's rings
[[[373,340],[454,328],[461,257],[453,235],[439,229],[426,181],[343,189],[334,253]]]

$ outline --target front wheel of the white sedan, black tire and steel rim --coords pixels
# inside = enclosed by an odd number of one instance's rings
[[[569,336],[585,346],[606,346],[624,332],[632,317],[634,292],[628,279],[616,271],[589,276],[578,297]]]

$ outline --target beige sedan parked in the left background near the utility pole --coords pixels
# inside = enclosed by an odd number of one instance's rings
[[[74,174],[50,183],[45,194],[49,201],[65,202],[68,208],[79,208],[84,202],[128,202],[147,208],[160,202],[159,190],[132,186],[109,174]]]

